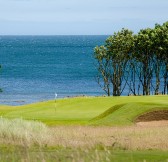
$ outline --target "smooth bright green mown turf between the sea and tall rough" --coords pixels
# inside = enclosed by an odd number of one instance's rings
[[[117,111],[99,116],[109,108],[123,104]],[[168,108],[168,96],[84,97],[60,99],[24,106],[0,106],[0,115],[8,118],[23,117],[41,120],[47,124],[127,125],[133,119],[151,109]],[[113,108],[111,108],[112,110]]]

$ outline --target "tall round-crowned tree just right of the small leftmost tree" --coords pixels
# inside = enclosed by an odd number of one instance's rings
[[[106,40],[105,46],[111,58],[110,78],[113,96],[120,96],[127,84],[128,63],[133,50],[133,40],[133,32],[124,28]]]

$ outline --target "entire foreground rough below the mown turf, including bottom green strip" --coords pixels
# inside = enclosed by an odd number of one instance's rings
[[[42,124],[41,128],[41,123],[20,119],[12,120],[12,123],[14,121],[17,123],[17,120],[18,124],[13,124],[14,128],[10,133],[5,131],[7,135],[1,135],[0,161],[166,162],[168,160],[167,126],[57,126],[48,127],[46,134],[46,126]],[[4,121],[11,124],[6,119],[0,122],[3,124]],[[20,121],[24,124],[20,124]],[[22,129],[19,131],[19,128],[23,127],[21,125],[24,125],[26,136]],[[31,125],[31,128],[27,125]],[[31,137],[32,134],[37,137]]]

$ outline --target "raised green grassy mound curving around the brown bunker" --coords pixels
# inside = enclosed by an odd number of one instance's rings
[[[143,114],[146,112],[149,111],[156,112],[156,110],[163,111],[164,109],[165,109],[164,112],[167,112],[168,105],[152,104],[152,103],[127,103],[127,104],[115,105],[110,109],[106,110],[104,113],[97,116],[96,118],[94,118],[94,120],[91,121],[91,124],[113,125],[113,126],[131,125],[134,124],[135,121],[137,121],[136,118],[138,118],[138,116],[143,116]],[[163,115],[159,117],[160,120],[161,117],[163,117]],[[167,117],[164,116],[163,119],[165,118],[168,119],[168,116]]]

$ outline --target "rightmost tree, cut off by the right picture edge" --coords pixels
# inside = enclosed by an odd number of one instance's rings
[[[168,93],[168,22],[163,25],[155,25],[155,40],[153,50],[155,52],[156,89],[158,94],[160,82],[163,78],[163,94]],[[167,89],[167,92],[166,92]]]

